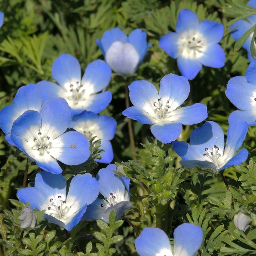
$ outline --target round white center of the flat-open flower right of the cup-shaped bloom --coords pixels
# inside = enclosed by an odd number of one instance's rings
[[[206,43],[206,39],[201,33],[189,30],[180,35],[178,49],[185,59],[197,59],[204,55]]]

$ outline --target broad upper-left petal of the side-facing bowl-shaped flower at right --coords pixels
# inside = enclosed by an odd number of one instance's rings
[[[224,133],[221,127],[212,121],[205,122],[201,127],[194,129],[190,135],[190,144],[194,150],[201,155],[205,153],[205,148],[219,147],[219,154],[223,155]]]

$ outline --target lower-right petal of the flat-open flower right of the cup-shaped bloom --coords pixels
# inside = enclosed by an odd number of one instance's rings
[[[223,67],[225,65],[225,53],[219,44],[208,45],[203,56],[198,61],[208,67]]]

